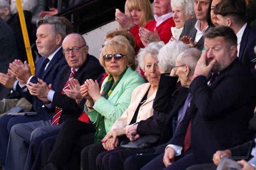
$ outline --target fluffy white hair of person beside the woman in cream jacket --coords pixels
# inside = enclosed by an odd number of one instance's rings
[[[164,72],[171,72],[172,68],[175,66],[178,55],[187,49],[188,46],[182,41],[169,41],[160,49],[157,55],[159,61],[158,66]]]

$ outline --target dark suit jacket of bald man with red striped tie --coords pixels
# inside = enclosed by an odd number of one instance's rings
[[[87,59],[82,66],[78,69],[74,78],[78,80],[80,85],[84,84],[86,79],[93,79],[96,78],[104,72],[103,67],[100,65],[98,59],[94,56],[87,54]],[[53,100],[52,100],[52,108],[55,109],[56,107],[60,107],[63,109],[62,116],[60,121],[66,120],[68,118],[77,119],[80,114],[82,113],[83,109],[78,107],[76,101],[72,98],[69,98],[65,94],[61,94],[64,85],[68,81],[68,78],[71,73],[70,66],[66,65],[62,71],[60,72],[59,84],[56,92],[54,93]]]

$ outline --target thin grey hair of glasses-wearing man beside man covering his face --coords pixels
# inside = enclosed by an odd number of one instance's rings
[[[201,57],[202,52],[196,48],[190,48],[183,51],[182,54],[178,57],[180,64],[188,65],[190,70],[194,71],[196,64]],[[193,73],[194,74],[194,73]]]

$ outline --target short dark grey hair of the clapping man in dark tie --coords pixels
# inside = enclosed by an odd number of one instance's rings
[[[58,16],[45,16],[44,18],[40,18],[36,21],[36,27],[38,28],[40,25],[50,24],[52,26],[52,30],[54,31],[54,35],[60,34],[63,39],[66,37],[66,25],[60,21]]]

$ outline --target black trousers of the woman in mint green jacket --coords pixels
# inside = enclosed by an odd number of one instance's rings
[[[77,119],[66,120],[57,137],[48,162],[60,169],[80,170],[80,154],[94,143],[95,126]]]

